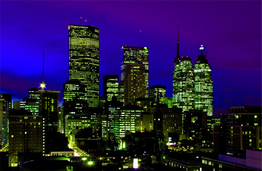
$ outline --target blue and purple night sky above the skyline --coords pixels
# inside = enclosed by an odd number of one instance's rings
[[[258,1],[0,1],[0,93],[13,100],[38,87],[45,50],[45,83],[68,80],[68,25],[99,28],[102,78],[120,75],[122,46],[149,47],[149,85],[172,96],[179,20],[180,55],[195,64],[204,45],[212,69],[214,115],[234,105],[261,105],[262,2]],[[84,20],[87,22],[84,22]],[[61,102],[60,102],[61,103]]]

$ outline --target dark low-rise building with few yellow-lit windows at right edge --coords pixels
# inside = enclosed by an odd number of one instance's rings
[[[261,106],[229,107],[221,114],[221,125],[214,125],[214,151],[262,149]]]

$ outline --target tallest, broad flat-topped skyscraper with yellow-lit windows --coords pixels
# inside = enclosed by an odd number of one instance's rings
[[[99,31],[92,26],[69,25],[69,80],[86,86],[89,107],[99,98]]]

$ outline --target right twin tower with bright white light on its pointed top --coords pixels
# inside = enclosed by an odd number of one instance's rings
[[[207,116],[213,116],[213,82],[211,79],[211,69],[203,54],[204,47],[199,48],[201,55],[194,68],[195,77],[195,109],[202,109],[207,112]]]

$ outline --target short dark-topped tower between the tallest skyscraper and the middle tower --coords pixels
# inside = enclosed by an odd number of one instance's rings
[[[118,75],[105,75],[103,77],[103,93],[106,102],[118,96]]]

